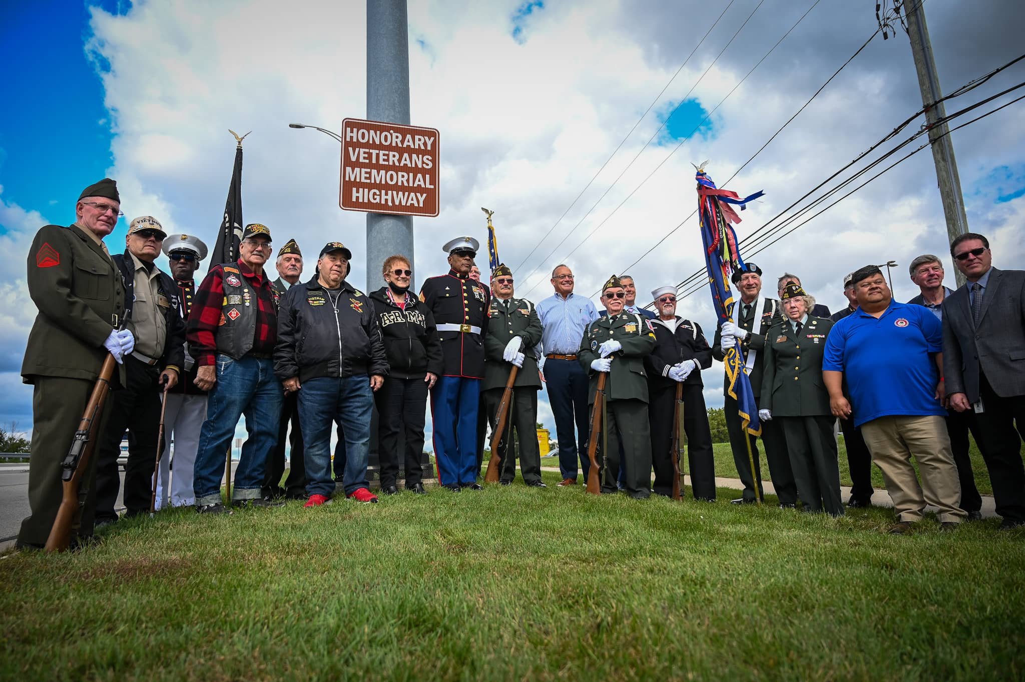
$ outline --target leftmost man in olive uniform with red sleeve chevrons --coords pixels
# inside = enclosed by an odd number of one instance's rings
[[[114,180],[104,178],[82,190],[69,227],[44,225],[28,259],[29,294],[39,314],[29,334],[22,365],[25,383],[33,384],[32,458],[29,506],[18,547],[42,547],[60,506],[61,462],[71,447],[82,412],[108,353],[121,363],[134,347],[131,332],[119,331],[125,293],[121,273],[102,239],[121,215]],[[124,367],[112,383],[123,385]],[[108,404],[110,404],[108,402]],[[102,432],[107,410],[96,436]],[[72,528],[72,547],[92,536],[95,458],[90,458],[79,492],[82,513]]]

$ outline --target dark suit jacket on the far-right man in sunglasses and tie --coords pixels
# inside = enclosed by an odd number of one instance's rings
[[[943,377],[947,395],[979,399],[979,373],[1000,397],[1025,395],[1025,270],[989,270],[979,327],[968,287],[943,301]]]

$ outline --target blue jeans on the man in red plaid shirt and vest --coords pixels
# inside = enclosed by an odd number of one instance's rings
[[[246,417],[246,441],[235,466],[232,500],[260,497],[263,472],[271,451],[278,443],[282,387],[270,357],[244,355],[232,359],[217,353],[217,381],[206,403],[206,421],[199,436],[193,488],[197,505],[220,502],[224,457],[235,436],[239,417]]]

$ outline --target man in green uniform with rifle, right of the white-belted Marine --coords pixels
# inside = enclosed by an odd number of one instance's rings
[[[499,482],[508,485],[516,478],[516,451],[512,429],[520,440],[520,474],[527,485],[545,487],[541,482],[541,454],[537,446],[537,373],[535,349],[541,341],[541,319],[534,304],[514,298],[512,270],[504,264],[491,274],[494,297],[488,307],[488,333],[484,337],[484,382],[481,396],[492,430],[497,424],[498,406],[512,366],[520,368],[512,385],[512,403],[498,452],[502,458]]]

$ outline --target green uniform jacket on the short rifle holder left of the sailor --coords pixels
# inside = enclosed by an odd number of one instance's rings
[[[627,400],[630,398],[648,401],[648,373],[644,369],[644,358],[655,349],[655,333],[643,315],[626,312],[616,319],[599,317],[587,325],[577,360],[590,377],[587,402],[594,401],[598,377],[601,372],[590,369],[591,361],[601,357],[599,347],[614,339],[622,344],[622,350],[614,352],[609,378],[605,380],[607,400]]]

